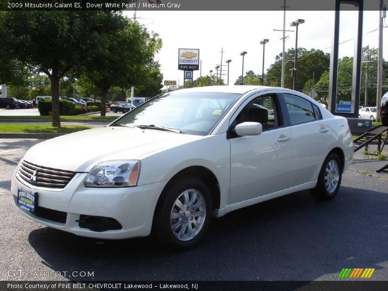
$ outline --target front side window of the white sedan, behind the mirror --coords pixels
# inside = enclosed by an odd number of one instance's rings
[[[251,121],[259,122],[263,131],[281,126],[276,95],[259,96],[252,99],[237,115],[236,124]]]

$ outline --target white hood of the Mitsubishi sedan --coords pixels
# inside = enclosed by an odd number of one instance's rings
[[[140,159],[203,136],[155,129],[104,127],[63,135],[33,146],[24,160],[36,165],[75,172],[89,172],[103,161]]]

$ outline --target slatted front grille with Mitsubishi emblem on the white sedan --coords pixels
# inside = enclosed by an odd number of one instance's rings
[[[20,178],[32,185],[47,188],[65,188],[77,173],[38,166],[31,162],[23,161],[19,167],[18,174]]]

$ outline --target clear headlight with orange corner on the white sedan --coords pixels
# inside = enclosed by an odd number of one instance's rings
[[[101,162],[93,167],[85,180],[85,187],[136,186],[140,161]]]

